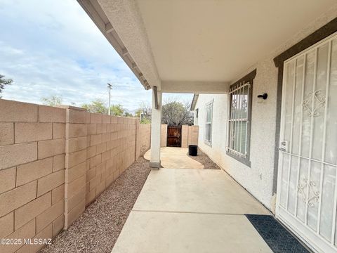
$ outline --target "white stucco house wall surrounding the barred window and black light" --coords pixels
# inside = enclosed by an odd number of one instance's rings
[[[227,95],[200,94],[195,109],[199,109],[199,147],[230,176],[238,181],[246,190],[273,212],[275,210],[275,193],[273,179],[275,168],[275,134],[277,117],[277,67],[273,58],[287,48],[304,39],[327,22],[336,18],[337,6],[313,20],[292,38],[286,38],[284,44],[273,52],[266,52],[261,59],[248,70],[237,76],[244,77],[256,69],[253,80],[253,98],[251,115],[251,167],[238,162],[226,155],[227,145]],[[232,80],[234,83],[237,79]],[[259,94],[267,93],[267,100],[257,98]],[[206,103],[213,101],[212,145],[204,142]]]

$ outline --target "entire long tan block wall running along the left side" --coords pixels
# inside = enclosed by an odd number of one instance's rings
[[[54,238],[149,148],[137,119],[0,99],[0,238]]]

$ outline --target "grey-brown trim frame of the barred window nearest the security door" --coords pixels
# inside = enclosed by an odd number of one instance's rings
[[[227,147],[226,147],[226,155],[234,158],[235,160],[242,162],[243,164],[246,164],[246,166],[251,167],[251,111],[252,111],[252,100],[253,100],[253,79],[256,77],[256,70],[253,70],[249,74],[246,74],[246,76],[242,77],[242,79],[239,79],[237,82],[234,82],[230,86],[230,93],[228,94],[228,115],[227,115]],[[231,120],[232,115],[232,98],[233,98],[233,91],[239,90],[244,88],[244,86],[248,86],[248,109],[247,109],[247,126],[246,126],[246,155],[242,155],[242,153],[237,153],[235,150],[230,149],[230,141],[231,141],[231,122],[234,122]],[[233,134],[234,135],[234,134]]]

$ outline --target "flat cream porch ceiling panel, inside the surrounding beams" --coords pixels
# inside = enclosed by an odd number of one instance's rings
[[[138,0],[161,80],[230,82],[336,0]]]

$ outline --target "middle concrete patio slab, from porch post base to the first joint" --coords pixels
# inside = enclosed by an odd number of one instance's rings
[[[270,214],[223,170],[151,171],[133,210],[208,214]]]

